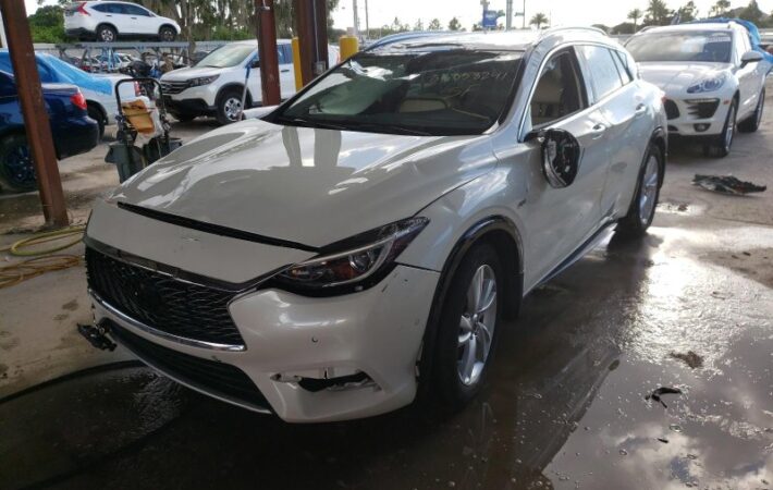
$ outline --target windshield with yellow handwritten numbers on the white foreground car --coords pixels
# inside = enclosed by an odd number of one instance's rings
[[[271,120],[376,133],[481,134],[507,107],[522,57],[465,49],[364,52]]]

